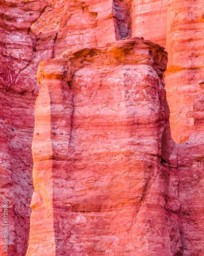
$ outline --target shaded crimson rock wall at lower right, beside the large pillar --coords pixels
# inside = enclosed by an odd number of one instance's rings
[[[202,90],[193,105],[194,130],[187,142],[176,145],[185,256],[201,256],[204,250],[203,80],[200,81],[200,87]]]

